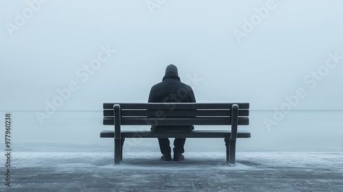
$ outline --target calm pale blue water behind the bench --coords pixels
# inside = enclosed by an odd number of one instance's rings
[[[12,113],[12,142],[54,142],[113,144],[112,139],[100,139],[99,132],[111,130],[102,125],[102,111],[58,111],[40,124],[35,111],[10,111]],[[239,139],[240,147],[333,147],[343,149],[343,110],[293,110],[283,119],[274,119],[273,110],[250,110],[250,125],[241,130],[252,133],[250,139]],[[5,112],[1,111],[5,125]],[[268,118],[276,125],[268,128]],[[123,127],[130,128],[130,127]],[[132,127],[131,127],[132,128]],[[148,126],[137,126],[146,128]],[[211,127],[198,126],[196,129]],[[213,127],[212,127],[213,128]],[[226,129],[225,126],[216,129]],[[1,132],[5,132],[1,129]],[[1,133],[3,135],[3,133]],[[4,138],[1,136],[1,143]],[[128,141],[130,142],[130,141]],[[156,145],[155,139],[139,141]],[[188,139],[189,146],[208,146],[223,143],[222,139]]]

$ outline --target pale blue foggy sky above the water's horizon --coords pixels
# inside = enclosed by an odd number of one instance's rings
[[[43,111],[69,86],[57,110],[146,102],[168,64],[198,102],[274,110],[300,88],[292,110],[343,109],[343,60],[325,71],[329,53],[343,56],[342,1],[158,2],[151,12],[145,0],[50,0],[18,26],[27,1],[1,1],[1,110]],[[235,29],[244,32],[268,3],[273,9],[239,43]],[[106,61],[90,69],[99,54]]]

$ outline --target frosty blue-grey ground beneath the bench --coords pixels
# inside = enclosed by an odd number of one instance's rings
[[[11,186],[0,191],[342,191],[342,149],[188,147],[185,160],[165,162],[156,146],[124,151],[113,165],[113,143],[16,143]],[[1,162],[5,158],[1,157]],[[4,165],[4,164],[3,164]],[[1,172],[4,172],[4,166]],[[1,173],[4,178],[4,174]]]

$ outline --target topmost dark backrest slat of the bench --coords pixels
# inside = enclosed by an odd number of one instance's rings
[[[249,103],[232,104],[199,104],[199,103],[141,103],[141,104],[119,104],[121,109],[154,109],[154,110],[193,110],[193,109],[230,109],[233,104],[237,104],[239,109],[249,109]],[[115,103],[104,103],[104,109],[113,109]]]

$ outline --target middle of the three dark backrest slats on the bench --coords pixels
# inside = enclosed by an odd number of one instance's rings
[[[121,110],[121,116],[149,116],[163,115],[167,117],[195,117],[195,116],[226,116],[231,115],[231,110]],[[113,117],[112,110],[104,110],[104,117]],[[249,116],[249,110],[239,110],[238,116]]]

